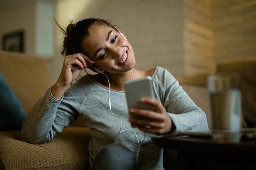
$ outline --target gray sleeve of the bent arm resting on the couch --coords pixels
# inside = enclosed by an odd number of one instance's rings
[[[22,141],[31,144],[50,142],[78,116],[71,102],[63,98],[56,99],[49,89],[27,114],[22,124]]]

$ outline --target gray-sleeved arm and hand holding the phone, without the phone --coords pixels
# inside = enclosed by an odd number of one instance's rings
[[[153,105],[155,111],[132,109],[131,113],[144,119],[129,118],[129,121],[141,126],[139,129],[142,131],[157,135],[208,130],[205,113],[195,105],[171,73],[165,70],[159,77],[161,81],[155,89],[159,99],[141,99],[141,102]]]

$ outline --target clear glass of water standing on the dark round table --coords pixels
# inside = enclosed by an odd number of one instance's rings
[[[209,75],[207,88],[213,121],[212,138],[239,141],[242,110],[239,73]]]

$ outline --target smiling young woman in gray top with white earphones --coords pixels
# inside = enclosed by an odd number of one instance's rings
[[[132,46],[115,26],[90,18],[71,23],[62,31],[66,36],[62,54],[66,57],[61,74],[27,114],[22,126],[24,141],[52,141],[54,135],[81,115],[85,126],[90,127],[92,170],[161,170],[162,149],[153,145],[152,134],[208,130],[205,113],[171,73],[161,67],[135,69]],[[84,68],[98,74],[87,74],[68,88]],[[130,118],[124,84],[145,76],[153,79],[155,99],[143,98],[141,102],[155,110],[133,108],[129,112],[141,119]],[[140,128],[132,128],[130,123]]]

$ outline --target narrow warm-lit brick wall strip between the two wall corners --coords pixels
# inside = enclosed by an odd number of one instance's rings
[[[214,69],[211,7],[210,0],[184,0],[185,75]]]

